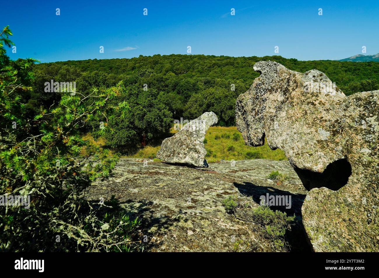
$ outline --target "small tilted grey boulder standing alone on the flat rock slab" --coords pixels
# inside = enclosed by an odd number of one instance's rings
[[[157,158],[168,163],[186,164],[195,167],[208,167],[204,148],[205,133],[218,121],[213,112],[205,112],[192,120],[174,136],[163,140]]]

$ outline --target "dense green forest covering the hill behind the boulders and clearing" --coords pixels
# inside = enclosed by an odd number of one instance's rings
[[[152,140],[168,132],[173,119],[193,119],[213,111],[220,126],[235,124],[235,100],[259,76],[253,65],[271,60],[305,72],[317,69],[326,73],[350,95],[379,89],[379,63],[339,61],[298,61],[281,56],[228,57],[205,55],[153,55],[132,59],[104,59],[36,64],[35,80],[28,107],[37,112],[61,98],[61,93],[45,93],[44,83],[76,82],[77,92],[90,93],[120,85],[114,103],[127,101],[130,113],[120,118],[106,115],[112,132],[105,134],[112,147]],[[121,82],[121,83],[119,83]],[[232,85],[234,84],[234,86]],[[234,88],[233,88],[234,87]],[[233,90],[234,89],[234,90]],[[95,136],[103,132],[99,123],[86,128]]]

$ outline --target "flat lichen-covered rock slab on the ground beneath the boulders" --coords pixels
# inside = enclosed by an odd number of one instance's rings
[[[310,251],[301,222],[306,190],[288,161],[265,159],[209,163],[209,168],[189,168],[153,160],[121,158],[111,177],[92,183],[89,200],[119,200],[130,216],[139,217],[139,238],[147,235],[150,252],[229,252],[235,242],[241,251],[276,251],[258,225],[225,212],[222,200],[230,195],[258,207],[260,196],[291,196],[285,209],[296,215],[291,230],[291,250]],[[277,185],[266,178],[272,171],[291,177]],[[249,247],[247,246],[249,244]],[[252,250],[251,248],[254,247]]]

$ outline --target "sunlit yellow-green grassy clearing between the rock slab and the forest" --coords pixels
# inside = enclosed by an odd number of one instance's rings
[[[177,130],[173,128],[170,135],[174,135]],[[94,140],[90,134],[85,135],[85,140],[91,140],[91,143],[97,146],[105,146],[106,142],[103,138]],[[241,133],[235,126],[221,127],[211,126],[207,134],[205,134],[204,146],[207,150],[207,162],[218,162],[224,160],[243,160],[265,158],[272,160],[286,160],[284,152],[280,149],[271,150],[265,141],[265,144],[260,147],[250,147],[245,145]],[[131,158],[155,158],[160,149],[160,144],[148,144],[145,148],[139,148],[133,153],[125,154],[122,150],[122,157]]]

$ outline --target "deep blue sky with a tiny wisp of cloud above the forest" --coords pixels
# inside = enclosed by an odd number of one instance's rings
[[[321,60],[362,54],[362,46],[378,53],[378,14],[379,1],[12,0],[3,1],[0,23],[13,32],[12,59],[187,54],[189,45],[191,54]]]

